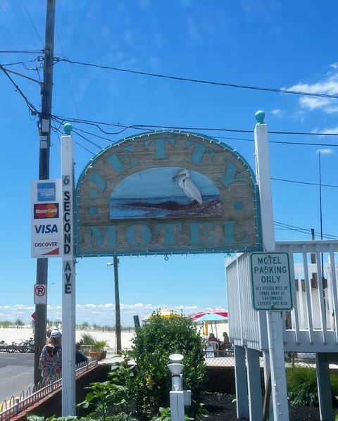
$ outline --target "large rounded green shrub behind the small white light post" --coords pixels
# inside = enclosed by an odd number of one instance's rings
[[[140,420],[147,420],[170,406],[171,375],[169,356],[184,356],[184,389],[192,391],[192,412],[201,402],[206,366],[201,337],[189,318],[154,313],[149,322],[135,329],[130,356],[136,362],[135,377],[128,389],[134,399],[135,412]]]

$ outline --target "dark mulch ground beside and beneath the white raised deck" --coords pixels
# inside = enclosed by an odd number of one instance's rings
[[[236,402],[233,402],[233,399],[234,396],[231,395],[206,394],[203,402],[209,415],[202,419],[239,421],[236,415]],[[319,408],[317,406],[290,406],[289,408],[290,421],[318,421],[319,419]],[[244,419],[240,418],[240,420]]]

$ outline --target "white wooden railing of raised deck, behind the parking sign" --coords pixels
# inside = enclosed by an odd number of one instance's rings
[[[284,350],[337,352],[338,241],[280,241],[289,253],[294,308],[283,312]],[[235,345],[268,349],[266,314],[253,310],[250,255],[226,259],[230,339]]]

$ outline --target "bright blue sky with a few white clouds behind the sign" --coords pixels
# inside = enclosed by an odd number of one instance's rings
[[[337,95],[337,13],[334,0],[325,7],[306,0],[56,0],[54,56],[61,61],[54,65],[50,177],[60,177],[62,122],[74,119],[90,122],[73,122],[76,177],[101,149],[149,126],[215,137],[254,170],[254,114],[263,110],[276,239],[308,240],[311,228],[320,237],[318,151],[323,234],[337,239],[337,98],[248,89]],[[0,0],[1,65],[42,80],[45,18],[44,0]],[[30,180],[38,178],[39,136],[26,101],[39,111],[41,99],[39,84],[9,75],[25,99],[0,70],[0,320],[28,322],[36,277]],[[140,125],[146,127],[130,127]],[[107,261],[78,262],[77,322],[114,323],[113,268]],[[119,279],[123,325],[158,307],[186,314],[227,308],[224,255],[122,257]],[[48,318],[61,319],[58,258],[49,259],[48,305]]]

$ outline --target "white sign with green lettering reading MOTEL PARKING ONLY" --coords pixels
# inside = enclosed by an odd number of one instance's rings
[[[288,253],[251,253],[253,308],[292,310]]]

